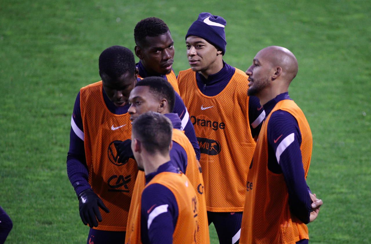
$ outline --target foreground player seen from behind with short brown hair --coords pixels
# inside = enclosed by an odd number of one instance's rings
[[[141,242],[196,243],[197,197],[190,180],[171,162],[171,121],[148,112],[132,126],[132,151],[146,181],[139,204]]]

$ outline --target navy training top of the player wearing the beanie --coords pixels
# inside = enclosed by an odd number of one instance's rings
[[[209,75],[207,79],[196,72],[197,86],[200,91],[209,97],[218,95],[228,85],[236,68],[223,61],[223,68],[216,74]],[[246,82],[247,79],[246,79]],[[247,92],[247,91],[246,91]],[[259,135],[262,121],[265,118],[265,111],[260,105],[259,98],[250,96],[249,99],[249,121],[252,137]]]

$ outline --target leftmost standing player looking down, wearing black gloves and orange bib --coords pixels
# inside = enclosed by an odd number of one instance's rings
[[[127,111],[138,76],[134,54],[122,46],[105,49],[99,75],[102,81],[81,88],[76,97],[67,172],[82,222],[91,227],[87,243],[123,243],[138,169],[134,159],[118,162],[116,147],[131,138]]]

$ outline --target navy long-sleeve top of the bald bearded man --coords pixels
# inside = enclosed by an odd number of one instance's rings
[[[279,94],[264,104],[266,115],[269,115],[279,101],[285,99],[292,100],[288,92]],[[300,150],[302,137],[295,117],[283,110],[273,112],[267,127],[267,141],[268,169],[273,173],[283,174],[289,193],[290,210],[307,224],[311,213],[311,198]]]

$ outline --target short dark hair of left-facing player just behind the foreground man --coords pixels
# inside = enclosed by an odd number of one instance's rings
[[[165,98],[169,112],[172,113],[175,105],[175,91],[171,84],[162,77],[151,76],[138,81],[135,87],[149,87],[150,92],[159,100]]]

